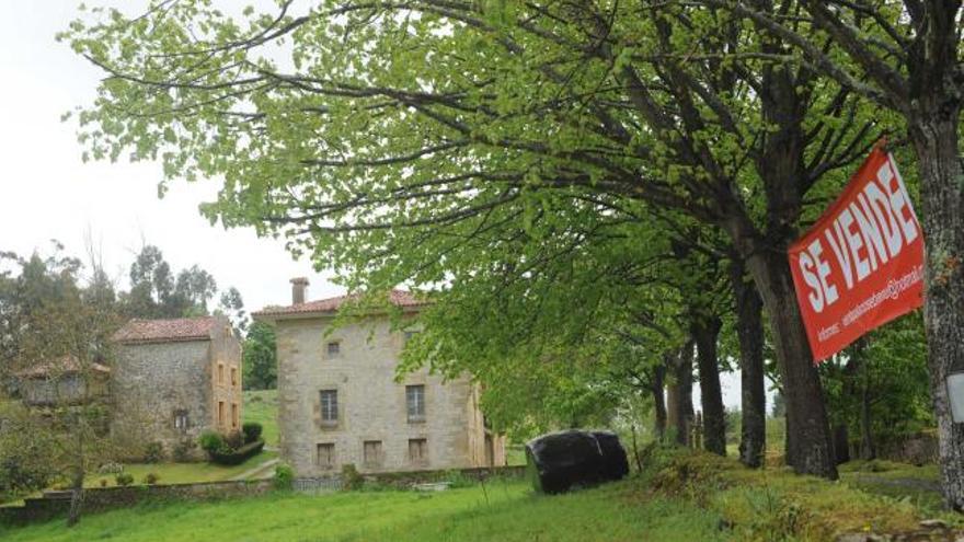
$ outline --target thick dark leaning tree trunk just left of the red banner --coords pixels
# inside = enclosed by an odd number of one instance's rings
[[[783,376],[787,463],[799,474],[836,480],[823,388],[796,304],[785,246],[776,249],[754,242],[743,244],[741,252],[767,309],[777,364]]]

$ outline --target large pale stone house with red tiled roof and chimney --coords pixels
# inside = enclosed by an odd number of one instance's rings
[[[505,464],[505,439],[485,428],[479,387],[421,369],[395,381],[404,342],[383,311],[334,325],[347,297],[306,302],[308,280],[292,282],[292,304],[254,318],[277,335],[280,454],[300,476],[354,464],[391,472]],[[423,303],[391,292],[411,318]]]

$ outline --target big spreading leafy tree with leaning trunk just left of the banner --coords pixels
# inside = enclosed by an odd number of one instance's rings
[[[525,269],[570,220],[627,206],[719,228],[773,328],[788,460],[836,475],[784,253],[805,196],[833,193],[871,145],[872,111],[768,62],[785,44],[688,4],[290,9],[156,3],[72,23],[62,37],[108,74],[80,114],[88,155],[130,149],[169,180],[222,177],[209,218],[285,234],[353,288]]]

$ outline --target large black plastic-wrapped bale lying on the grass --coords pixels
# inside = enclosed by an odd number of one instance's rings
[[[609,431],[571,429],[543,435],[526,445],[526,461],[533,487],[542,493],[565,493],[629,473],[626,450]]]

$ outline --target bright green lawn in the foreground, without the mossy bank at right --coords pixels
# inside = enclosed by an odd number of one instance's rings
[[[142,505],[82,519],[10,529],[25,541],[713,541],[720,518],[696,506],[633,497],[618,483],[562,496],[523,482],[440,493],[275,494],[216,503]]]

